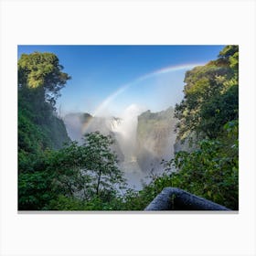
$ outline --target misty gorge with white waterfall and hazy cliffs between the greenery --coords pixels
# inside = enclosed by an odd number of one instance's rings
[[[141,189],[152,173],[161,174],[163,159],[174,155],[176,134],[174,109],[142,112],[129,106],[122,117],[92,117],[89,113],[69,113],[64,116],[69,137],[82,144],[85,133],[99,131],[114,139],[112,152],[117,155],[129,187]]]

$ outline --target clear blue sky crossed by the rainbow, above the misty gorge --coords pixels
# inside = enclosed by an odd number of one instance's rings
[[[216,59],[224,46],[18,46],[52,52],[72,79],[58,109],[121,115],[131,105],[158,112],[183,98],[187,69]],[[179,67],[176,69],[176,67]]]

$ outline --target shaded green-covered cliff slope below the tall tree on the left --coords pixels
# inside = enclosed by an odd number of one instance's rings
[[[18,91],[18,150],[32,157],[47,148],[59,149],[70,139],[54,108],[29,93]]]

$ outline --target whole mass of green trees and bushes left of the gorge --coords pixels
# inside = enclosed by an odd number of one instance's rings
[[[18,60],[18,208],[117,208],[125,181],[112,138],[90,133],[83,145],[69,143],[56,115],[59,91],[70,79],[62,69],[52,53]]]

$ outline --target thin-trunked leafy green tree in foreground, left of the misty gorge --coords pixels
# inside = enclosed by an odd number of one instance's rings
[[[73,142],[60,149],[50,160],[49,168],[56,173],[54,186],[67,197],[111,201],[126,185],[112,143],[110,136],[95,132],[87,133],[82,145]]]

